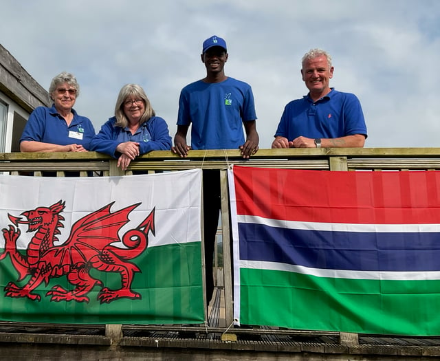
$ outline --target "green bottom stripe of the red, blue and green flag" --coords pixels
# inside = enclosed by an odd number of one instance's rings
[[[292,329],[440,334],[440,280],[328,278],[240,270],[240,322]]]

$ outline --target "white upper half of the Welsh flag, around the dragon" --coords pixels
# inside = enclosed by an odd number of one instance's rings
[[[200,242],[201,170],[133,175],[124,177],[23,177],[0,175],[0,228],[11,224],[8,213],[49,207],[65,201],[64,228],[59,243],[69,237],[72,224],[91,212],[114,202],[111,212],[141,203],[129,215],[129,223],[120,230],[140,224],[155,208],[155,236],[148,236],[148,247]],[[34,232],[21,224],[17,248],[27,248]],[[0,235],[0,248],[4,239]]]

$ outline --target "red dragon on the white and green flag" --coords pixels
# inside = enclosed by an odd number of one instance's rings
[[[131,289],[135,272],[140,269],[128,261],[139,256],[148,245],[148,232],[155,235],[155,209],[140,223],[137,228],[128,230],[120,239],[118,232],[127,222],[128,216],[140,203],[132,204],[115,212],[110,208],[114,201],[74,223],[65,243],[56,245],[59,228],[63,228],[65,219],[61,212],[65,208],[64,201],[58,201],[50,207],[38,207],[21,213],[22,217],[8,214],[10,224],[3,228],[5,251],[0,254],[0,261],[10,256],[12,265],[19,274],[18,282],[27,276],[30,279],[23,287],[15,283],[5,286],[5,296],[28,297],[31,300],[41,300],[34,293],[41,283],[46,285],[50,278],[66,276],[67,281],[74,287],[65,289],[55,285],[46,293],[51,301],[62,300],[89,302],[87,294],[95,287],[101,287],[98,294],[100,303],[111,303],[118,298],[140,299],[141,295]],[[30,241],[25,254],[17,250],[17,239],[21,231],[19,224],[28,225],[28,232],[36,232]],[[112,243],[120,242],[125,248],[119,248]],[[117,272],[121,276],[122,287],[109,289],[104,287],[100,279],[90,274],[92,269],[100,272]]]

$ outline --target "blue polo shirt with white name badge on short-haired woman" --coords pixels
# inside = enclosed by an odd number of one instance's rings
[[[74,118],[67,126],[54,105],[50,108],[36,107],[29,116],[20,142],[33,140],[58,145],[82,144],[89,151],[91,138],[95,135],[94,126],[89,118],[78,116],[74,109],[72,113]]]

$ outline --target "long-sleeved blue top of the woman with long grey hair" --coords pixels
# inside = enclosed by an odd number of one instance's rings
[[[121,128],[115,126],[116,117],[112,117],[105,122],[98,134],[91,140],[90,150],[119,157],[116,147],[124,142],[140,143],[140,154],[150,151],[168,151],[171,149],[171,137],[168,125],[160,117],[151,117],[147,122],[141,124],[134,134],[128,127]]]

